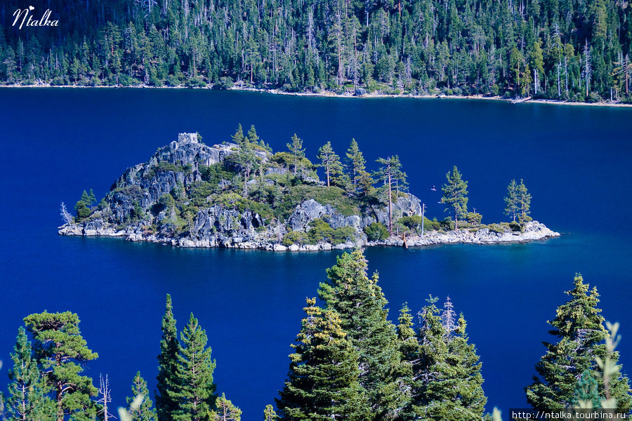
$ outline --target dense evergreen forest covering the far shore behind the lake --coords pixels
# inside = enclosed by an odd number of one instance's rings
[[[20,7],[0,8],[8,84],[631,98],[627,1],[50,0],[29,16],[56,26],[21,29]]]

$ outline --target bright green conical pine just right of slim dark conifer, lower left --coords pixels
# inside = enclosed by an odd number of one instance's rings
[[[174,421],[212,420],[217,396],[213,383],[215,361],[211,359],[211,348],[206,347],[208,337],[191,314],[189,323],[180,333],[178,354],[178,387],[169,396],[178,399],[178,409],[173,413]]]

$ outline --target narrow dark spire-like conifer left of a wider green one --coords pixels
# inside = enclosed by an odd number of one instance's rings
[[[166,295],[166,307],[162,316],[162,339],[158,355],[158,383],[155,394],[158,421],[173,420],[179,400],[171,396],[178,387],[178,332],[173,318],[171,295]]]

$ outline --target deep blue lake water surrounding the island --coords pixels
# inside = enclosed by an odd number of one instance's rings
[[[525,180],[532,216],[565,235],[497,246],[369,248],[397,319],[447,295],[468,321],[483,363],[488,409],[525,407],[523,387],[544,354],[547,319],[576,272],[598,287],[603,315],[621,321],[632,373],[632,109],[508,105],[483,100],[296,98],[183,90],[0,89],[0,389],[28,314],[70,310],[125,404],[137,370],[155,387],[164,296],[178,328],[193,312],[209,335],[218,391],[261,418],[282,388],[305,297],[316,295],[336,252],[189,250],[119,239],[58,236],[59,203],[83,189],[103,196],[129,166],[177,133],[230,140],[251,124],[282,150],[296,133],[308,158],[328,140],[343,155],[355,138],[369,169],[399,154],[428,215],[445,214],[430,191],[452,166],[469,181],[468,206],[495,222],[512,179]],[[628,369],[629,368],[629,369]]]

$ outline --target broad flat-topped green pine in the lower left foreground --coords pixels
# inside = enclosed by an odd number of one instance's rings
[[[90,377],[82,376],[81,366],[98,357],[88,349],[79,331],[79,317],[70,312],[31,314],[24,319],[35,340],[34,356],[39,361],[41,375],[52,387],[57,421],[65,415],[87,421],[96,415],[91,396],[98,390]]]

